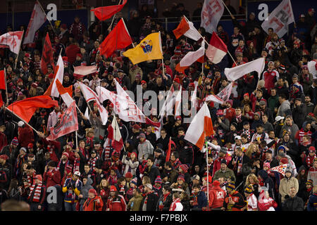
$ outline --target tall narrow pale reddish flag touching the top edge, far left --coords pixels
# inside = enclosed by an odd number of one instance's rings
[[[46,15],[42,11],[39,1],[35,1],[35,6],[31,15],[27,31],[25,32],[25,39],[23,44],[30,44],[34,42],[35,32],[46,22]]]

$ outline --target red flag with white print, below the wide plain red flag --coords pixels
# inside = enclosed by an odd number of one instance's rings
[[[47,140],[54,141],[60,136],[69,134],[78,129],[76,103],[70,104],[67,110],[61,115],[61,120],[51,127],[50,135],[46,138]]]

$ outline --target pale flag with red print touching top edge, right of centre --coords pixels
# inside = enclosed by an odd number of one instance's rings
[[[205,0],[201,9],[201,27],[204,27],[206,32],[213,33],[217,31],[217,25],[221,16],[223,16],[222,0]]]

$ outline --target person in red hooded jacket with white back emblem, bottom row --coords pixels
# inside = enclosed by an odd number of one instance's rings
[[[220,188],[220,182],[213,181],[212,188],[209,190],[209,209],[221,209],[225,195],[223,188]]]

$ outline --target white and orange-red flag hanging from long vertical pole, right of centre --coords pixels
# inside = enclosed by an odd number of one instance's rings
[[[211,136],[212,134],[213,122],[211,121],[209,108],[206,103],[204,103],[203,107],[201,107],[189,125],[185,134],[185,140],[201,149],[204,146],[206,136]]]

